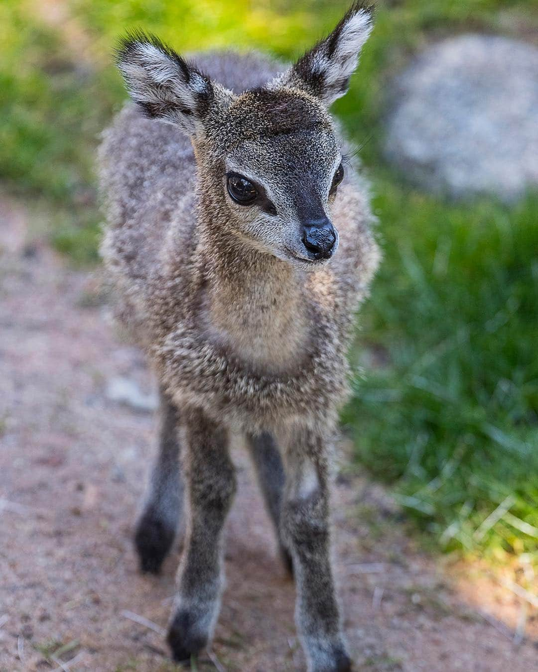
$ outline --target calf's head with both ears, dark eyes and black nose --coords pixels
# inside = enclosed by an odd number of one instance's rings
[[[328,107],[371,28],[371,7],[355,3],[295,65],[240,95],[143,34],[124,40],[118,66],[148,116],[192,139],[205,206],[243,241],[305,267],[338,247],[330,212],[344,167]]]

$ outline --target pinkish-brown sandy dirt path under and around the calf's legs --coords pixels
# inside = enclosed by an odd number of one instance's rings
[[[163,628],[180,550],[145,577],[131,542],[155,448],[154,382],[108,324],[95,274],[70,269],[27,220],[0,199],[0,671],[176,669]],[[227,589],[196,667],[303,672],[293,582],[240,442],[234,457]],[[344,467],[333,507],[356,670],[538,669],[535,631],[520,642],[512,630],[518,599],[448,579],[383,489]]]

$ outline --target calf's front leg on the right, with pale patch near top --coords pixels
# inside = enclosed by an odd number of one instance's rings
[[[323,439],[297,430],[286,450],[282,532],[293,556],[295,618],[309,672],[348,672],[330,560],[328,466]]]

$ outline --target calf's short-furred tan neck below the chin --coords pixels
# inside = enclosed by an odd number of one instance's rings
[[[285,261],[224,231],[208,227],[202,241],[208,330],[263,370],[297,366],[308,339],[301,279]]]

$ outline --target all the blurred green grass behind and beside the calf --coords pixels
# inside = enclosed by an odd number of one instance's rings
[[[96,259],[93,155],[124,98],[110,65],[126,28],[182,50],[234,46],[297,56],[345,2],[66,0],[81,54],[29,0],[0,5],[0,179],[34,204],[52,243]],[[335,106],[373,179],[385,259],[352,353],[381,353],[344,412],[356,459],[393,485],[447,549],[538,562],[538,200],[447,204],[383,165],[387,85],[428,42],[465,30],[538,34],[530,0],[379,2],[350,93]],[[268,30],[270,27],[270,30]],[[88,47],[89,45],[89,47]],[[494,515],[491,515],[492,512]]]

